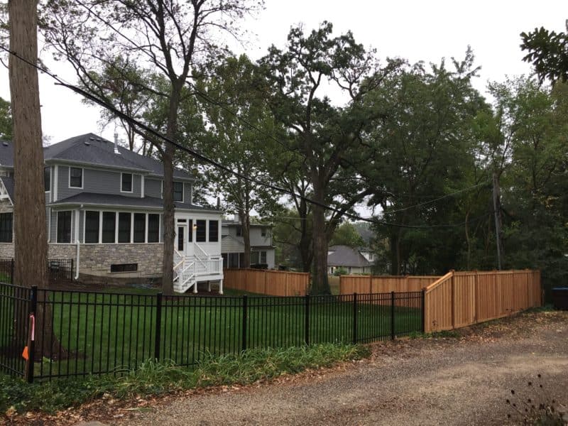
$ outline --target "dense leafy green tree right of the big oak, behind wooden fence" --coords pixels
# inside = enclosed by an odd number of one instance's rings
[[[471,124],[488,106],[471,86],[476,72],[471,51],[452,62],[430,69],[418,63],[373,93],[386,109],[369,138],[382,158],[385,186],[373,200],[387,222],[376,227],[378,251],[393,275],[456,267],[464,229],[441,225],[469,222],[473,211],[464,209],[462,197],[445,195],[484,179],[466,177],[477,168]]]

